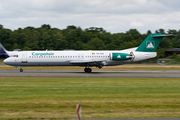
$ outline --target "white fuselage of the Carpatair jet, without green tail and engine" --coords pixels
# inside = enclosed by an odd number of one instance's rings
[[[112,53],[130,54],[133,61],[156,57],[156,52],[136,52],[136,48],[122,51],[21,51],[4,60],[12,66],[115,66],[131,62],[112,60]]]

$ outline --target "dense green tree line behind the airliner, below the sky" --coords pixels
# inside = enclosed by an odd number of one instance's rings
[[[158,57],[168,48],[180,47],[180,30],[159,29],[156,33],[174,34],[175,37],[166,37],[157,49]],[[5,29],[0,25],[0,43],[7,50],[122,50],[137,47],[151,31],[141,34],[136,29],[125,33],[110,33],[103,28],[90,27],[82,30],[74,25],[66,29],[51,28],[44,24],[39,28],[26,27],[17,30]]]

